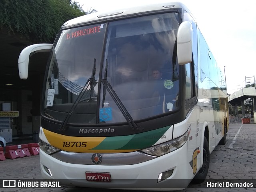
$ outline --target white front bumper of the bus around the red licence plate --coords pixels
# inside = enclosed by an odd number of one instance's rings
[[[178,190],[188,186],[188,157],[186,144],[169,154],[130,165],[87,165],[62,162],[40,150],[40,167],[43,178],[61,180],[63,185],[119,188],[134,190]],[[50,176],[44,166],[50,169]],[[157,182],[162,172],[173,170],[172,175]],[[86,181],[85,172],[109,172],[111,182]]]

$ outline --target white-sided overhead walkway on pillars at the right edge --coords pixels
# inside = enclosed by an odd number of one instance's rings
[[[256,122],[256,87],[243,88],[228,96],[228,103],[232,105],[237,112],[237,106],[242,106],[242,116],[245,116],[244,100],[252,98],[254,110],[254,122]]]

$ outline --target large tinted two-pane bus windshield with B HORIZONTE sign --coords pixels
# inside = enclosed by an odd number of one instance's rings
[[[126,122],[124,111],[141,120],[177,110],[178,26],[178,13],[170,12],[62,30],[49,61],[44,116],[96,124]]]

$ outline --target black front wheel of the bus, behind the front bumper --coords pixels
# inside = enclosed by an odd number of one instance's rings
[[[196,176],[193,179],[193,183],[200,184],[204,182],[206,179],[206,176],[208,174],[208,169],[210,165],[210,151],[209,151],[209,145],[206,137],[204,137],[204,158],[203,158],[203,165],[202,168],[198,171]]]

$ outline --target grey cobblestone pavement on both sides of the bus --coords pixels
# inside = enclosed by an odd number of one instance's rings
[[[232,124],[229,126],[226,145],[218,145],[210,155],[207,179],[254,179],[256,181],[256,124]],[[39,155],[0,161],[0,179],[42,179]],[[254,181],[254,182],[255,182]],[[204,188],[202,188],[204,187]],[[256,188],[205,188],[202,184],[190,184],[179,192],[254,192]],[[118,192],[98,188],[2,188],[0,192]],[[132,190],[122,190],[128,192]],[[134,192],[134,191],[133,191]]]

